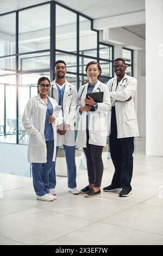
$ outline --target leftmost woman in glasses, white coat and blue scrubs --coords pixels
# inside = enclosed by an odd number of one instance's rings
[[[47,77],[37,82],[38,95],[28,100],[22,124],[30,135],[28,162],[32,163],[33,185],[37,200],[57,199],[49,187],[49,173],[54,167],[57,142],[56,126],[62,123],[62,112],[57,102],[48,97],[51,83]]]

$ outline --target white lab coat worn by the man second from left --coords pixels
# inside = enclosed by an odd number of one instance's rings
[[[58,98],[58,90],[57,84],[55,80],[51,82],[53,86],[51,88],[51,96],[57,101]],[[57,146],[67,145],[74,146],[75,138],[74,138],[74,123],[76,121],[76,109],[77,109],[77,89],[73,84],[66,81],[65,91],[63,96],[63,115],[64,115],[64,124],[69,126],[69,130],[66,131],[65,135],[59,135],[57,133]]]

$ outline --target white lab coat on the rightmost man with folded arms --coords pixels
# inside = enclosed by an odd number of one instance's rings
[[[117,138],[139,136],[133,99],[137,87],[136,78],[125,75],[117,86],[117,77],[115,77],[110,79],[107,85],[111,96],[111,106],[115,106],[116,111]],[[132,99],[126,101],[130,96]]]

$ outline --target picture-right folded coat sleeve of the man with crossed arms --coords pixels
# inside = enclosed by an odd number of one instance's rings
[[[117,101],[126,101],[129,99],[130,96],[132,96],[135,93],[136,87],[137,80],[136,78],[132,77],[128,81],[126,88],[124,88],[121,91],[110,92],[110,96]]]

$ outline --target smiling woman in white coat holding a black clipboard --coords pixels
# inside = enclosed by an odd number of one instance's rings
[[[111,108],[110,93],[106,84],[98,80],[101,75],[101,66],[89,62],[85,68],[89,82],[80,87],[78,92],[78,125],[77,147],[84,150],[87,164],[89,185],[80,190],[85,197],[94,197],[101,194],[103,175],[102,150],[106,145],[107,114]],[[102,93],[103,101],[95,102],[87,93]]]

